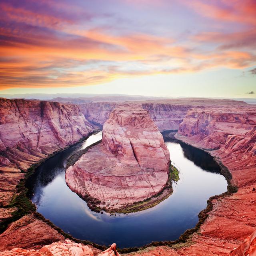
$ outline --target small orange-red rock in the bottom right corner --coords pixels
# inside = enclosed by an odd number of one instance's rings
[[[234,248],[230,256],[255,256],[256,255],[256,231],[248,236],[240,246]]]

